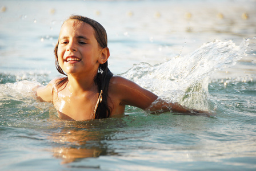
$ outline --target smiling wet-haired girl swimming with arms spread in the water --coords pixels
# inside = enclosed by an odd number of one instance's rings
[[[38,100],[54,104],[61,119],[111,117],[124,113],[125,105],[147,111],[202,113],[166,103],[134,82],[113,76],[107,67],[110,52],[105,28],[93,19],[78,15],[67,19],[54,52],[57,70],[66,77],[55,78],[34,91]]]

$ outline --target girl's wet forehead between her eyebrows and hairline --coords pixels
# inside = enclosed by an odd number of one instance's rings
[[[60,36],[85,35],[94,37],[94,29],[89,24],[76,19],[68,19],[61,27]]]

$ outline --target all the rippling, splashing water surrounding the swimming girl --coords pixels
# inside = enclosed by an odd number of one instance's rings
[[[1,1],[1,170],[255,170],[255,4]],[[53,48],[74,13],[105,26],[114,74],[214,115],[58,119],[31,87],[59,76]]]

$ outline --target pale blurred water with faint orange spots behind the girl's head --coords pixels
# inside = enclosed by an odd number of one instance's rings
[[[254,0],[1,0],[0,72],[58,75],[53,48],[71,14],[95,19],[106,28],[110,70],[121,74],[133,64],[163,63],[214,39],[239,45],[256,35],[255,7]],[[254,52],[252,47],[249,53]],[[254,56],[243,60],[255,64]],[[255,65],[250,69],[255,71]]]

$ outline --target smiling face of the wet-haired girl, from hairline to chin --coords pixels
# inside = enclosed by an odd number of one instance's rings
[[[95,76],[101,48],[95,39],[93,27],[74,19],[67,20],[61,27],[57,54],[59,66],[67,75]]]

